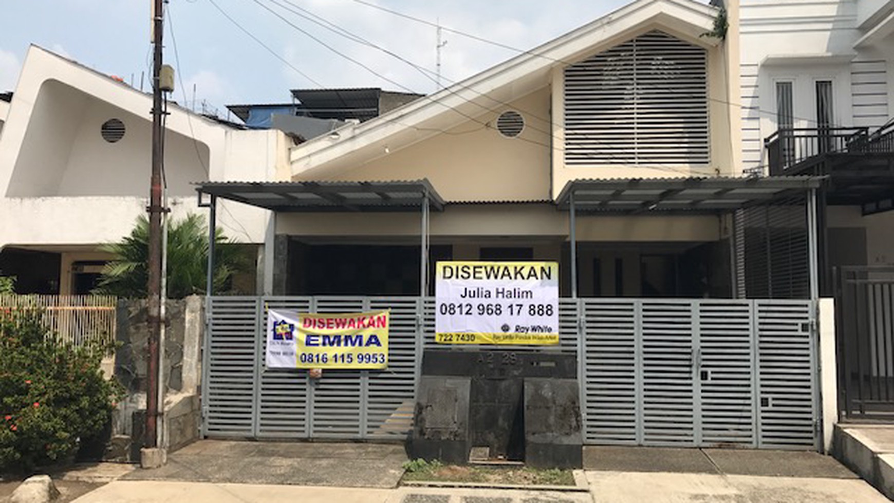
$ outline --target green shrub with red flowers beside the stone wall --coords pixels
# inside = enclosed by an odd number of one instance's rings
[[[109,348],[58,342],[35,309],[0,312],[0,471],[71,460],[122,398],[100,362]]]

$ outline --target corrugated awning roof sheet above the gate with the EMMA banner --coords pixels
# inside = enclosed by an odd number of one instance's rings
[[[426,199],[443,211],[444,201],[426,180],[396,181],[203,181],[208,194],[276,212],[419,211]]]

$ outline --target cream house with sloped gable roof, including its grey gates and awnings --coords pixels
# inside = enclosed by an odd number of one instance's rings
[[[414,400],[429,396],[418,391],[420,373],[432,372],[427,357],[452,350],[443,361],[474,366],[471,352],[484,373],[499,365],[497,351],[505,365],[524,363],[507,373],[552,358],[543,366],[555,370],[543,372],[561,370],[579,391],[585,443],[824,449],[834,405],[820,401],[817,366],[818,345],[830,343],[816,323],[823,179],[741,176],[739,55],[737,2],[723,11],[637,0],[291,146],[265,183],[201,183],[212,214],[240,202],[270,210],[273,222],[264,295],[209,300],[203,434],[405,438],[424,408]],[[797,264],[772,271],[747,253],[761,230],[743,216],[770,207],[803,221],[773,237]],[[560,343],[435,344],[439,260],[558,263]],[[788,289],[761,295],[761,271]],[[326,370],[312,381],[266,368],[257,334],[272,308],[391,309],[388,369]],[[435,381],[488,386],[457,374],[467,367],[444,366],[453,373]],[[474,389],[442,391],[468,401],[483,392]],[[518,410],[519,388],[510,389],[485,393],[506,400],[499,414]],[[503,424],[469,417],[479,433]],[[501,441],[487,447],[506,453]]]

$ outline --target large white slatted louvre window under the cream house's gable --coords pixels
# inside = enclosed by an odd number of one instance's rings
[[[566,164],[710,162],[707,52],[651,31],[565,69]]]

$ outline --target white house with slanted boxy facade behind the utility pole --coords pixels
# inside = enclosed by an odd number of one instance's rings
[[[4,98],[10,95],[2,96]],[[31,46],[9,103],[0,99],[0,273],[20,293],[87,293],[103,243],[146,214],[152,96]],[[169,104],[165,137],[173,217],[200,212],[194,182],[269,180],[291,140],[240,130]],[[287,165],[287,164],[286,164]],[[267,212],[227,205],[218,224],[257,248]],[[255,290],[253,276],[242,289]]]

